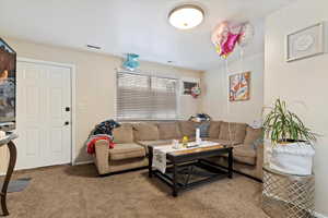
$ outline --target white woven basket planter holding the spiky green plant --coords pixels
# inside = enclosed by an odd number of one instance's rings
[[[283,173],[312,174],[315,149],[306,143],[276,144],[270,146],[269,166]]]

